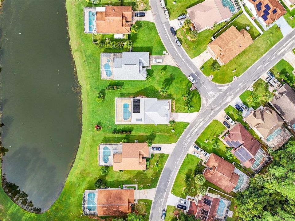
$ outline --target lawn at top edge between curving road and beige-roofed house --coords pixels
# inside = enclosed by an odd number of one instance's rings
[[[187,8],[203,2],[204,0],[165,0],[166,8],[168,9],[170,20],[177,18],[179,15],[187,14]],[[173,4],[176,2],[176,4]]]

